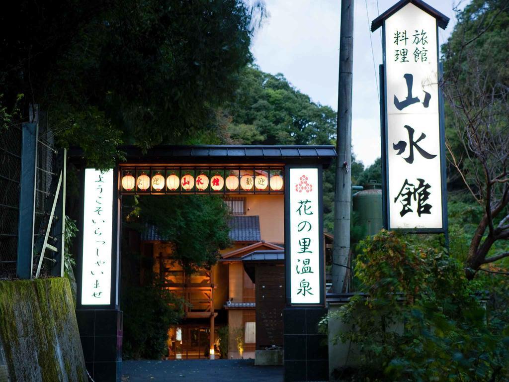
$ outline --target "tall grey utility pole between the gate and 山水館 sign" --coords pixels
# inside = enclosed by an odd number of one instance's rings
[[[352,67],[353,1],[341,0],[340,79],[337,97],[336,191],[334,194],[334,252],[332,291],[348,292],[350,204],[352,193]]]

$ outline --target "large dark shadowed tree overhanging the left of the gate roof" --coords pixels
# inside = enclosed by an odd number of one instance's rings
[[[24,94],[60,145],[110,167],[121,143],[181,143],[215,128],[215,108],[251,61],[264,8],[241,0],[21,0],[0,16],[7,110]]]

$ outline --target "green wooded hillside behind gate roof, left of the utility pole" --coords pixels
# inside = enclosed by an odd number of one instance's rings
[[[235,98],[223,106],[229,137],[248,145],[328,145],[336,113],[295,89],[282,74],[247,66]]]

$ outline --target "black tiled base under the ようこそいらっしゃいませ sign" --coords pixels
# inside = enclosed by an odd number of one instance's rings
[[[79,337],[87,370],[96,381],[122,378],[122,312],[76,310]]]

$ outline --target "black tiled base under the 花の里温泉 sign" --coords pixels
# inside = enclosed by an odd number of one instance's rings
[[[328,381],[329,346],[327,336],[318,333],[324,308],[285,308],[285,382]]]

